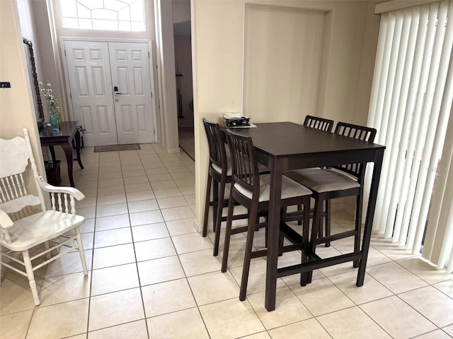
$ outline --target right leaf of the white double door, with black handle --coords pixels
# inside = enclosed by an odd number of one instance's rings
[[[153,143],[154,120],[148,44],[110,42],[118,143]]]

